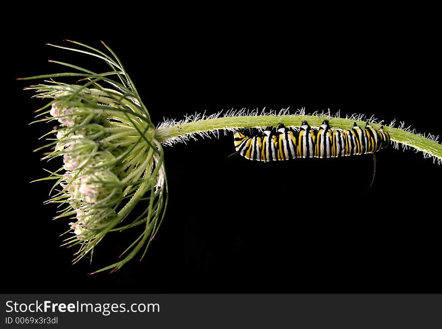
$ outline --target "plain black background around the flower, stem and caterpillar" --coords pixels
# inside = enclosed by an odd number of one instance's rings
[[[309,113],[330,108],[398,119],[442,135],[440,88],[432,80],[440,76],[439,56],[423,33],[428,27],[217,23],[71,33],[50,29],[49,20],[47,33],[30,25],[28,34],[8,40],[5,292],[440,293],[440,166],[421,153],[383,150],[369,189],[371,156],[255,163],[229,157],[232,133],[165,147],[169,207],[142,262],[87,274],[116,260],[131,243],[128,232],[109,234],[91,265],[70,264],[73,250],[59,247],[58,237],[68,220],[52,221],[56,207],[42,204],[50,184],[29,183],[61,162],[46,164],[41,152],[32,153],[50,127],[28,126],[43,103],[14,79],[64,70],[48,59],[102,66],[46,43],[66,38],[99,48],[103,39],[155,123],[220,109],[305,106]]]

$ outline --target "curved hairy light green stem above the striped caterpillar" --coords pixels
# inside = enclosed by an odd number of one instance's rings
[[[351,129],[355,122],[360,127],[365,127],[366,124],[365,121],[322,116],[239,116],[200,120],[172,127],[160,128],[157,129],[156,139],[160,143],[166,143],[170,139],[194,133],[220,129],[257,128],[267,126],[276,127],[279,123],[283,123],[287,127],[299,127],[303,121],[307,121],[311,127],[319,127],[324,120],[329,121],[331,128],[343,130]],[[370,123],[370,125],[376,129],[379,129],[382,126],[380,124],[372,123]],[[442,145],[439,143],[398,128],[384,126],[383,129],[390,134],[392,141],[413,147],[438,159],[442,159]]]

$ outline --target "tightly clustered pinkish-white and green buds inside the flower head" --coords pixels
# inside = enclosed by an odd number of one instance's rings
[[[113,138],[113,123],[85,112],[66,107],[63,101],[52,103],[50,114],[61,124],[52,156],[62,155],[66,170],[60,181],[62,194],[56,199],[69,202],[69,214],[75,211],[76,221],[70,227],[76,238],[93,241],[117,217],[125,172],[116,160],[124,148]],[[106,138],[109,142],[103,143]]]

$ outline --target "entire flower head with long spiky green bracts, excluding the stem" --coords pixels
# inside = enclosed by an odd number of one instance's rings
[[[110,70],[95,73],[53,61],[72,72],[25,78],[51,79],[27,89],[51,99],[38,110],[37,122],[59,123],[45,135],[56,138],[44,146],[51,152],[43,159],[62,157],[63,167],[40,180],[56,180],[47,202],[61,204],[57,218],[73,218],[65,245],[79,246],[74,262],[92,254],[107,233],[144,226],[121,261],[96,272],[117,270],[143,247],[144,256],[160,227],[167,206],[164,154],[147,109],[113,51],[104,44],[109,54],[73,43],[78,48],[55,47],[98,57]],[[80,80],[55,81],[62,77]],[[145,210],[131,218],[139,202]]]

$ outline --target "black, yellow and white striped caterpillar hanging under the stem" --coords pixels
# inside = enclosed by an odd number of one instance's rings
[[[355,122],[352,129],[333,130],[324,120],[318,130],[306,121],[299,130],[289,129],[282,123],[276,131],[268,126],[262,136],[252,134],[250,129],[240,129],[235,132],[234,142],[237,152],[246,159],[269,162],[374,153],[389,145],[390,135],[383,131],[383,126],[376,130],[369,123],[365,129]]]

